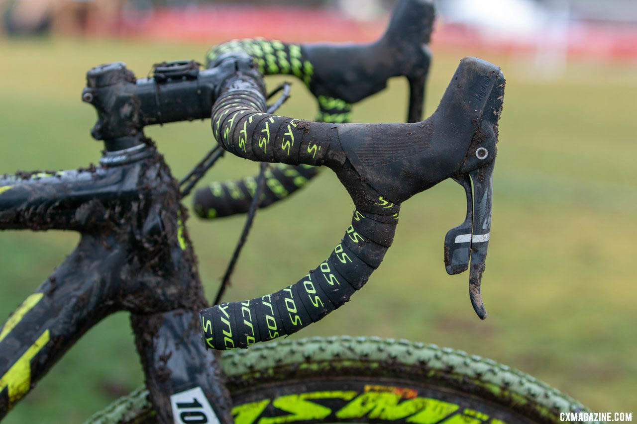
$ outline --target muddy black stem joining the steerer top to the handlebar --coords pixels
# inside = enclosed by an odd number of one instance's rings
[[[219,66],[200,69],[194,60],[155,64],[151,78],[136,78],[124,62],[96,66],[87,72],[82,100],[97,110],[91,129],[107,152],[144,143],[143,128],[210,118],[222,83],[237,71],[257,73],[251,57],[233,54]],[[178,104],[179,107],[175,107]]]

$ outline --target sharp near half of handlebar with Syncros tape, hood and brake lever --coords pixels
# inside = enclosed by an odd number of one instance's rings
[[[480,196],[472,206],[471,232],[458,234],[445,248],[459,264],[464,257],[455,253],[468,246],[469,297],[478,316],[486,317],[480,280],[505,85],[498,67],[463,59],[438,110],[422,122],[326,124],[264,113],[261,79],[251,60],[240,56],[226,60],[234,60],[237,72],[224,82],[213,106],[211,124],[217,142],[250,160],[327,166],[348,190],[355,211],[341,243],[305,278],[271,295],[201,311],[208,348],[247,347],[291,334],[347,302],[391,245],[401,202],[466,174]]]

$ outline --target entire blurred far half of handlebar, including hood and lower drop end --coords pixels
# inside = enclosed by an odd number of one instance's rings
[[[385,88],[392,76],[405,76],[410,85],[407,122],[422,118],[425,81],[431,62],[434,6],[427,0],[404,0],[392,12],[385,34],[365,45],[295,44],[269,39],[233,40],[211,49],[207,66],[228,53],[254,58],[262,74],[293,74],[318,102],[317,121],[350,122],[352,103]],[[315,169],[283,165],[268,178],[260,207],[285,199],[318,174]],[[299,184],[300,183],[300,184]],[[245,213],[252,201],[255,177],[212,183],[197,190],[193,209],[211,219]]]

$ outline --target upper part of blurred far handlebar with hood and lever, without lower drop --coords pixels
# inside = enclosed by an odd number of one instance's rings
[[[408,122],[419,121],[424,81],[429,71],[434,6],[430,0],[400,1],[383,36],[369,44],[297,44],[268,39],[242,39],[210,50],[208,67],[228,54],[253,57],[262,74],[294,74],[317,98],[322,113],[342,118],[320,119],[342,123],[351,104],[385,88],[392,76],[410,81]]]

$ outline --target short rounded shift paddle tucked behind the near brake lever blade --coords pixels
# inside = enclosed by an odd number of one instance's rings
[[[448,230],[445,236],[445,269],[449,275],[460,274],[469,268],[473,230],[473,195],[469,175],[462,174],[452,178],[464,188],[467,197],[467,215],[464,222]]]

